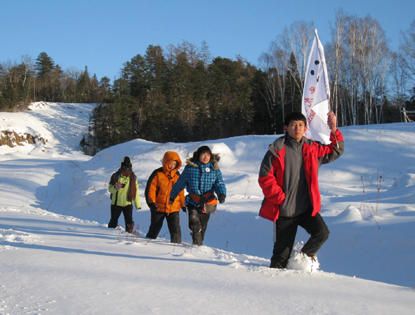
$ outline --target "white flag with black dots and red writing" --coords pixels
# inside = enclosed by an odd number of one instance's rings
[[[329,76],[327,75],[324,48],[318,38],[317,30],[315,30],[304,82],[302,114],[307,118],[304,136],[324,144],[330,143],[330,128],[327,125],[329,98]]]

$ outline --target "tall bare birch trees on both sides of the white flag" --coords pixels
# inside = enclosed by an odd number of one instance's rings
[[[330,35],[324,50],[331,109],[340,126],[400,122],[401,111],[414,110],[415,20],[401,32],[398,52],[391,51],[385,31],[370,16],[338,10]],[[259,58],[264,99],[275,125],[299,102],[292,89],[303,89],[313,37],[313,22],[294,22]]]

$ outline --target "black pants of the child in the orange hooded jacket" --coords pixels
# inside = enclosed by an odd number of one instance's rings
[[[147,233],[145,237],[149,237],[155,240],[158,237],[158,233],[160,233],[165,218],[167,221],[167,226],[169,227],[170,242],[181,244],[181,228],[178,211],[173,213],[151,211],[151,224],[149,233]]]

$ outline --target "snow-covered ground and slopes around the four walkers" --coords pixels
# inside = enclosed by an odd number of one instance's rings
[[[42,106],[40,106],[42,105]],[[320,169],[331,231],[318,264],[269,269],[273,224],[258,217],[259,164],[277,136],[206,141],[228,189],[205,246],[147,240],[140,186],[137,237],[109,229],[107,183],[131,156],[145,184],[163,154],[201,143],[135,140],[92,158],[79,151],[93,105],[40,104],[0,113],[0,129],[48,138],[0,146],[0,314],[413,314],[415,124],[340,128],[346,152]],[[124,226],[123,217],[120,225]],[[300,228],[297,249],[308,235]]]

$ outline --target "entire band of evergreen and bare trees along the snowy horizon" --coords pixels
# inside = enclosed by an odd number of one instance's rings
[[[414,110],[415,20],[391,51],[380,24],[339,10],[324,44],[331,108],[339,125],[393,123]],[[300,111],[313,22],[295,21],[277,35],[257,66],[241,56],[213,57],[206,42],[148,46],[125,62],[119,78],[98,80],[61,67],[47,53],[35,62],[0,64],[0,110],[37,100],[93,102],[82,146],[89,154],[143,138],[158,143],[246,134],[280,134]]]

